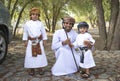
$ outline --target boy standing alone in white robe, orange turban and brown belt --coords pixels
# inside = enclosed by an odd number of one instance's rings
[[[26,46],[24,67],[29,68],[29,75],[35,74],[35,68],[43,74],[42,67],[47,66],[44,45],[47,40],[46,31],[42,22],[39,21],[40,11],[38,8],[30,10],[30,20],[24,25],[23,41]]]

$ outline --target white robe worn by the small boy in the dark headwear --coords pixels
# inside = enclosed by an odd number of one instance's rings
[[[77,48],[77,47],[85,47],[84,45],[84,41],[88,40],[91,41],[92,44],[94,45],[95,40],[92,38],[92,36],[89,33],[84,33],[84,34],[79,34],[76,37],[76,41],[73,43],[73,45]],[[92,51],[90,49],[88,49],[88,51],[86,51],[84,53],[84,63],[80,62],[80,67],[82,68],[91,68],[95,66],[95,62],[93,59],[93,55],[92,55]]]

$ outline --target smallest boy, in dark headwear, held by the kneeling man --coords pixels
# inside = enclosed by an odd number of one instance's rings
[[[76,37],[76,41],[72,46],[75,48],[79,48],[81,51],[84,51],[84,57],[81,58],[80,67],[85,69],[82,72],[83,78],[90,77],[90,68],[95,66],[95,62],[92,56],[91,48],[95,43],[95,40],[88,33],[89,25],[86,22],[80,22],[78,24],[78,36]],[[83,59],[83,60],[82,60]]]

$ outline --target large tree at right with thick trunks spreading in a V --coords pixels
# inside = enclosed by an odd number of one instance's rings
[[[102,49],[107,50],[117,50],[120,49],[120,1],[111,0],[111,14],[109,21],[109,29],[106,31],[105,19],[104,19],[104,10],[102,5],[102,0],[93,0],[95,2],[97,10],[97,18],[99,25],[99,34],[102,45]]]

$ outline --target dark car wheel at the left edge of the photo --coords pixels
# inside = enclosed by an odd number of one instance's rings
[[[5,36],[6,35],[0,31],[0,64],[3,63],[7,54],[8,44]]]

